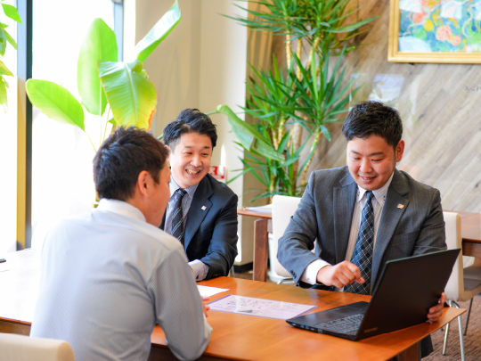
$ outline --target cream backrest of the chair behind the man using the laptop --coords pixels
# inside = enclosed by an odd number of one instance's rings
[[[462,249],[461,237],[461,217],[458,213],[443,212],[444,223],[446,228],[446,245],[448,250],[455,248]],[[444,289],[447,299],[457,301],[464,291],[464,279],[462,271],[462,255],[458,256],[454,267],[452,267],[452,274],[449,277],[448,283]]]

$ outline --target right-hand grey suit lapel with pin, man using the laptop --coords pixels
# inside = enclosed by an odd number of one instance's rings
[[[409,204],[409,199],[406,197],[407,193],[409,193],[407,181],[404,176],[401,175],[401,172],[395,169],[393,180],[387,189],[386,201],[379,221],[374,254],[372,255],[371,291],[373,285],[376,283],[376,276],[378,275],[380,263],[387,249],[387,245],[391,241],[395,228]],[[400,208],[398,207],[399,205],[403,207]]]

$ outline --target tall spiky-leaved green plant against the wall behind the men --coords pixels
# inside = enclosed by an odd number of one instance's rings
[[[249,29],[285,37],[287,65],[281,69],[274,56],[272,70],[251,66],[255,76],[247,83],[243,111],[253,117],[254,125],[240,120],[226,105],[218,106],[216,111],[228,117],[244,149],[244,168],[237,169],[237,176],[249,172],[265,187],[252,201],[274,194],[299,196],[306,186],[306,170],[321,135],[330,141],[326,124],[341,120],[347,111],[351,82],[345,80],[346,69],[341,68],[341,61],[355,49],[353,39],[363,33],[363,26],[376,17],[352,22],[360,8],[350,6],[351,0],[250,3],[262,10],[250,7],[249,17],[231,19]],[[297,45],[295,52],[293,44]],[[300,55],[306,47],[309,56],[302,62]],[[331,56],[338,56],[334,66],[330,64]],[[302,131],[307,132],[304,141],[299,136]],[[269,148],[259,152],[253,146],[258,140],[269,144]],[[301,156],[309,142],[310,150]],[[267,155],[273,152],[282,159]]]

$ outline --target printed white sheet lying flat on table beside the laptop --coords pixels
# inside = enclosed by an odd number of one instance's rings
[[[222,299],[217,299],[209,303],[208,306],[210,306],[211,311],[269,317],[279,320],[287,320],[300,316],[317,307],[313,305],[302,305],[300,303],[290,303],[272,299],[255,299],[253,297],[236,295],[229,295]]]

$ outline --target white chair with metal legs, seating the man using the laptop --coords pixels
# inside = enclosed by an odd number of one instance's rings
[[[455,248],[462,249],[462,237],[461,237],[461,217],[458,213],[443,212],[445,228],[446,228],[446,244],[449,250]],[[477,275],[478,279],[474,277]],[[459,308],[456,303],[458,301],[473,301],[479,292],[481,292],[481,267],[478,267],[476,263],[470,267],[463,268],[462,255],[458,256],[454,267],[452,267],[452,274],[446,284],[444,293],[448,299],[450,307],[454,305]],[[469,312],[466,318],[466,333],[468,328],[469,313],[471,310],[471,303],[469,304]],[[458,316],[458,322],[460,324],[460,344],[461,344],[461,359],[464,361],[464,344],[462,340],[462,323],[461,316]],[[449,332],[449,324],[446,325],[446,332],[444,334],[444,347],[443,355],[446,354],[447,337]]]

